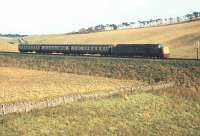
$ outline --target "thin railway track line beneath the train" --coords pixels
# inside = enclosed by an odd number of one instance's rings
[[[66,57],[66,58],[104,58],[104,59],[148,59],[148,60],[164,60],[159,58],[140,58],[140,57],[108,57],[108,56],[76,56],[76,55],[60,55],[60,54],[34,54],[34,53],[19,53],[19,52],[0,52],[0,55],[17,55],[17,56],[44,56],[44,57]],[[168,58],[166,60],[174,61],[200,61],[193,58]]]

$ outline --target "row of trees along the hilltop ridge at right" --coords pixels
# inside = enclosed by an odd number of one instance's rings
[[[78,32],[73,33],[91,33],[91,32],[101,32],[101,31],[109,31],[109,30],[117,30],[117,29],[126,29],[126,28],[139,28],[139,27],[151,27],[151,26],[159,26],[165,24],[174,24],[180,23],[184,21],[192,21],[200,17],[200,12],[193,12],[191,14],[186,14],[182,17],[176,18],[158,18],[158,19],[151,19],[148,21],[138,21],[138,22],[123,22],[119,25],[116,24],[107,24],[107,25],[97,25],[94,27],[88,28],[81,28]]]

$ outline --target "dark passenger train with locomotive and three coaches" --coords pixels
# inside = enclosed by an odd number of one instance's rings
[[[170,55],[169,48],[162,44],[20,44],[19,52],[163,59]]]

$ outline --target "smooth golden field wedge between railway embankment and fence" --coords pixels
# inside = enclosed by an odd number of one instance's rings
[[[0,103],[34,101],[75,93],[109,91],[139,85],[134,80],[59,74],[0,67]]]

